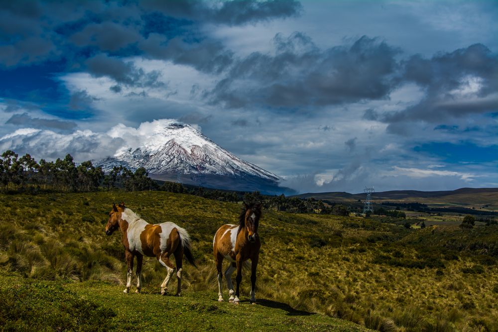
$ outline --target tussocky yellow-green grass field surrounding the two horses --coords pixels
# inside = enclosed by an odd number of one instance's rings
[[[104,233],[107,213],[120,201],[146,221],[174,221],[191,234],[199,269],[184,267],[182,298],[159,295],[165,271],[155,258],[144,259],[144,294],[122,294],[121,236]],[[165,192],[99,192],[0,195],[0,209],[5,330],[80,322],[116,330],[498,331],[497,225],[406,229],[264,211],[259,304],[248,304],[245,271],[246,302],[235,307],[216,302],[212,238],[220,225],[236,222],[241,205]],[[61,296],[67,301],[58,303]],[[74,304],[81,312],[71,310]],[[48,325],[47,311],[61,323]]]

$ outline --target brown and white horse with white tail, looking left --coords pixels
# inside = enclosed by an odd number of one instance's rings
[[[161,294],[164,295],[175,270],[169,260],[169,256],[173,254],[176,260],[176,277],[178,278],[176,296],[180,296],[183,254],[192,265],[196,266],[190,251],[190,236],[187,231],[173,222],[150,224],[126,208],[123,202],[118,206],[113,204],[113,210],[109,213],[109,221],[106,225],[106,234],[111,235],[117,228],[121,229],[124,256],[128,264],[126,289],[123,292],[128,293],[131,287],[133,258],[135,256],[137,265],[136,293],[140,292],[142,288],[142,260],[145,255],[148,257],[155,256],[167,270],[166,278],[161,284]]]

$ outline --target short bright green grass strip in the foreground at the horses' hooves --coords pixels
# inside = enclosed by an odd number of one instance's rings
[[[364,331],[283,303],[219,303],[212,292],[182,297],[124,294],[105,282],[34,281],[0,275],[2,331]]]

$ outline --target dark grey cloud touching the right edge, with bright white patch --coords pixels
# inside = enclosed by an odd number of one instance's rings
[[[379,116],[391,133],[405,132],[413,121],[438,123],[498,109],[498,57],[482,44],[431,59],[412,56],[404,63],[403,79],[426,94],[414,106]]]

